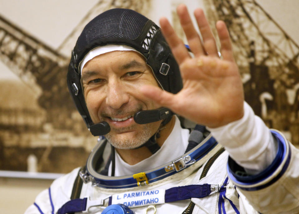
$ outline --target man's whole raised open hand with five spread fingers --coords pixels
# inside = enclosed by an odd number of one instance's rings
[[[194,58],[166,18],[160,19],[160,25],[179,64],[183,89],[171,94],[148,85],[141,88],[141,92],[159,105],[208,127],[219,127],[240,119],[243,116],[243,85],[225,23],[216,23],[221,59],[202,9],[196,9],[194,16],[203,41],[192,24],[187,7],[179,5],[177,12]]]

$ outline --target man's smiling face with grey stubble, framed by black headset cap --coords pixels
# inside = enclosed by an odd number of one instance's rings
[[[160,106],[143,97],[139,88],[158,86],[142,55],[135,51],[112,51],[89,60],[82,69],[85,102],[94,123],[106,121],[111,131],[105,136],[119,149],[144,144],[159,129],[161,121],[140,125],[133,116],[140,110]]]

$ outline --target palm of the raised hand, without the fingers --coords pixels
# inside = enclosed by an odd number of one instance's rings
[[[243,85],[235,63],[216,57],[194,58],[180,66],[183,89],[171,109],[209,127],[243,116]]]

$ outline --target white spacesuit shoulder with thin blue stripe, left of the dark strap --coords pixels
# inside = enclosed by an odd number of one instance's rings
[[[70,200],[74,180],[80,168],[74,169],[53,181],[48,189],[37,195],[35,202],[27,208],[25,214],[53,214]]]

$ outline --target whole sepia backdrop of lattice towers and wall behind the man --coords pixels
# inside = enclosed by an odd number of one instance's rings
[[[97,143],[66,85],[83,27],[105,10],[129,8],[158,25],[168,17],[186,42],[175,12],[182,2],[191,13],[205,10],[215,36],[216,21],[225,21],[246,102],[299,147],[297,0],[0,0],[0,206],[6,213],[24,212],[53,179],[83,166]],[[4,206],[16,201],[19,211]]]

